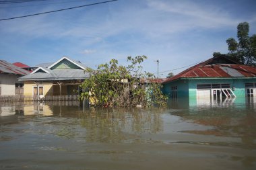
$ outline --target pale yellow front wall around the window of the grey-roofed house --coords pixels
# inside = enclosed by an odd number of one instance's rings
[[[44,95],[53,95],[53,83],[51,82],[42,82],[40,83],[41,87],[44,88]],[[36,87],[34,81],[25,81],[24,82],[24,95],[33,95],[33,87]]]

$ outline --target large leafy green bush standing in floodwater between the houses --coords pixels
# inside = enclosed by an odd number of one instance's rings
[[[118,60],[99,65],[96,70],[87,68],[86,79],[80,87],[84,89],[80,99],[88,99],[96,107],[146,107],[152,103],[166,104],[166,96],[160,91],[150,73],[142,73],[141,62],[146,56],[127,57],[127,67],[118,65]]]

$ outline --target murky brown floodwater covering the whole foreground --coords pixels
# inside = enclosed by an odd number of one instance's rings
[[[0,103],[0,169],[256,169],[253,100],[176,106]]]

